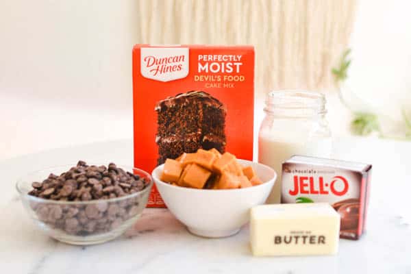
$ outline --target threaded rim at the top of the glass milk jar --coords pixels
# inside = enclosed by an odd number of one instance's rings
[[[325,114],[325,95],[310,90],[273,90],[266,98],[266,112],[281,110],[312,110]]]

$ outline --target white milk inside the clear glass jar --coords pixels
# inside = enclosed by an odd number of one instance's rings
[[[314,138],[275,138],[269,134],[260,134],[258,144],[258,162],[271,166],[277,172],[277,182],[267,203],[280,203],[282,163],[292,155],[306,155],[321,158],[329,158],[332,149],[331,137]]]

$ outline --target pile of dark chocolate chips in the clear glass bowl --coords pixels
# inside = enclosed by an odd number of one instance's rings
[[[29,195],[55,201],[92,201],[95,203],[36,203],[31,207],[47,225],[74,235],[109,232],[136,216],[145,205],[149,192],[136,197],[110,201],[147,188],[149,180],[120,169],[116,164],[77,166],[61,175],[50,174],[43,182],[32,183]],[[105,201],[107,200],[107,201]]]

